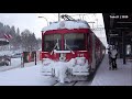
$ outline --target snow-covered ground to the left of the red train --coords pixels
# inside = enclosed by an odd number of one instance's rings
[[[55,79],[41,75],[41,63],[26,67],[0,72],[0,86],[52,86]],[[31,65],[31,66],[30,66]]]

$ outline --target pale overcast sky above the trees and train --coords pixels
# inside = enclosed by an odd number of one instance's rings
[[[103,26],[103,20],[101,13],[61,13],[72,15],[74,19],[84,19],[88,22],[95,22],[94,28]],[[78,15],[85,14],[85,15]],[[44,18],[38,18],[44,16]],[[97,21],[98,20],[98,21]],[[0,22],[4,25],[14,25],[19,28],[20,32],[28,29],[34,32],[36,37],[41,37],[41,30],[50,22],[58,21],[58,13],[0,13]],[[92,28],[92,24],[89,23]],[[105,31],[98,31],[97,36],[106,37]],[[105,40],[105,38],[103,38]],[[106,42],[106,41],[105,41]]]

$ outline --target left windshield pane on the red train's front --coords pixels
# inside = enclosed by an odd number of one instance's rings
[[[48,34],[44,36],[44,51],[61,51],[61,34]]]

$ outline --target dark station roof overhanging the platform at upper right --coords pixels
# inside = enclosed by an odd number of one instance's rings
[[[132,42],[132,13],[102,13],[108,44]]]

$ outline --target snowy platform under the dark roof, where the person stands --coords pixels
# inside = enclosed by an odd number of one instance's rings
[[[108,55],[100,64],[91,86],[132,86],[132,62],[123,64],[122,58],[117,59],[118,69],[109,70]]]

